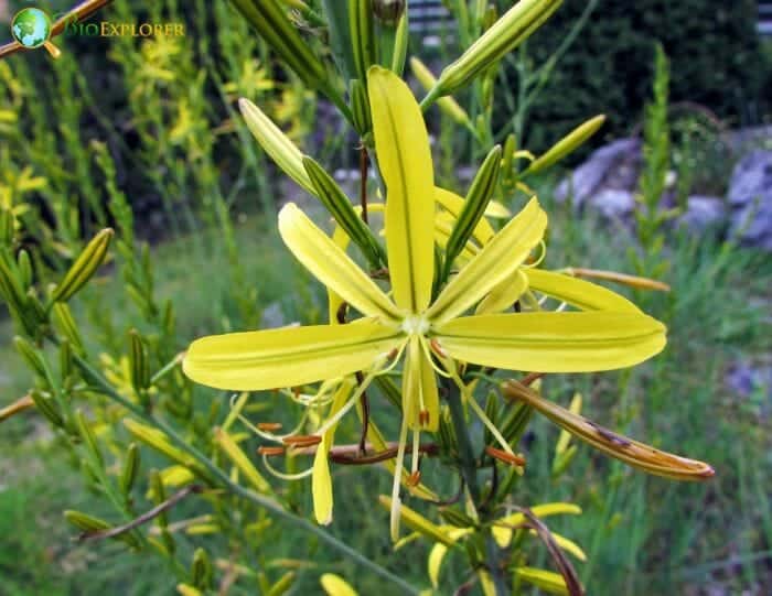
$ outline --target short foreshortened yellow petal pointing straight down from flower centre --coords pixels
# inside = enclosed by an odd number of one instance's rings
[[[421,410],[428,414],[428,424],[421,425]],[[403,415],[412,430],[437,432],[440,419],[440,399],[437,379],[429,358],[421,349],[418,337],[412,337],[407,347],[403,372]]]

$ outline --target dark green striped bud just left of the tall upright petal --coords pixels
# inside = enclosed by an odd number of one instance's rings
[[[335,221],[345,230],[349,237],[360,247],[373,268],[386,262],[386,256],[375,239],[373,231],[356,215],[349,197],[324,169],[308,155],[303,155],[305,172],[311,178],[319,199],[324,204]]]

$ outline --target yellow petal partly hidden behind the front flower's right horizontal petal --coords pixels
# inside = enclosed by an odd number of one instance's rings
[[[624,296],[608,288],[543,269],[526,269],[528,286],[548,296],[567,302],[582,311],[640,313]]]

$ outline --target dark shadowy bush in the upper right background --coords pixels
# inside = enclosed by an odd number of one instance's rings
[[[566,0],[534,35],[528,53],[537,65],[560,44],[586,4]],[[607,136],[629,134],[641,121],[650,95],[657,40],[675,73],[673,102],[708,106],[732,126],[760,121],[760,89],[769,78],[770,63],[757,34],[757,2],[601,0],[594,17],[534,107],[530,120],[539,127],[529,131],[532,149],[545,148],[600,111],[609,116]]]

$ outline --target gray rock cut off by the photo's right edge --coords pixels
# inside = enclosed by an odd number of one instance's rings
[[[740,160],[728,201],[730,235],[744,246],[772,251],[772,151],[752,151]]]

